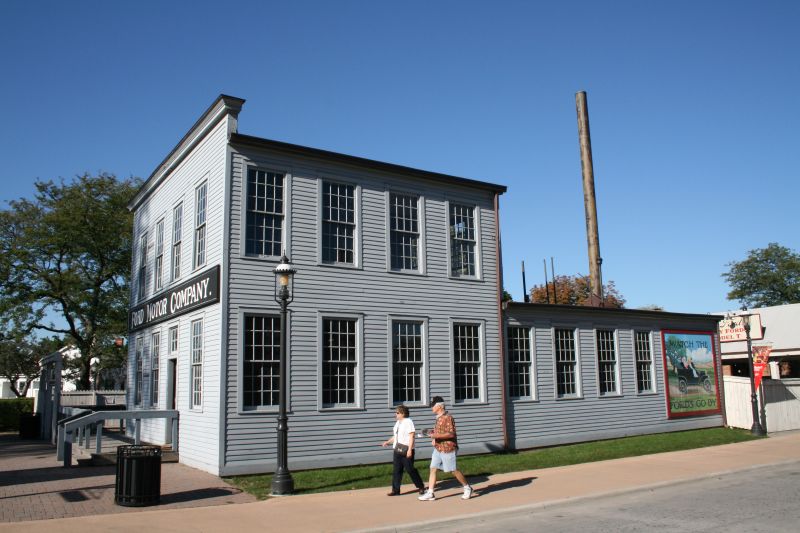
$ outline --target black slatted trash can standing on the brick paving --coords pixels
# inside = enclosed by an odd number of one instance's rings
[[[156,505],[161,500],[161,448],[117,447],[114,503],[125,507]]]

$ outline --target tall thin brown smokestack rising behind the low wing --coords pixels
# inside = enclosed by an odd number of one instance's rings
[[[583,174],[583,206],[586,211],[586,242],[589,247],[589,280],[593,305],[603,305],[603,259],[600,257],[600,234],[597,229],[597,202],[594,194],[594,167],[592,165],[592,138],[589,133],[589,105],[586,91],[575,93],[578,111],[578,141],[581,146],[581,172]]]

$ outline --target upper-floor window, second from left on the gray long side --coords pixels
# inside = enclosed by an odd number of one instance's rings
[[[322,183],[322,262],[355,264],[355,187]]]

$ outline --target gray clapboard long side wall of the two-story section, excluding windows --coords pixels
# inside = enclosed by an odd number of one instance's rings
[[[267,471],[275,463],[275,417],[272,412],[241,410],[241,316],[245,312],[277,314],[273,301],[277,262],[243,257],[242,195],[247,165],[284,172],[290,235],[287,252],[298,269],[295,300],[290,306],[291,398],[289,453],[292,465],[342,465],[385,461],[375,450],[394,423],[391,408],[389,316],[427,323],[427,394],[452,399],[451,319],[481,323],[486,396],[480,404],[456,405],[459,440],[466,451],[502,445],[499,376],[501,355],[497,322],[497,260],[493,193],[467,186],[378,173],[311,157],[234,146],[231,160],[230,278],[226,396],[226,473]],[[321,265],[319,258],[319,182],[322,179],[358,187],[358,268]],[[425,274],[387,272],[387,191],[420,195],[426,244]],[[446,202],[475,205],[480,215],[481,280],[448,276]],[[359,316],[362,383],[358,409],[320,409],[320,316]],[[427,407],[412,407],[421,427],[431,426]],[[430,447],[423,447],[424,455]],[[332,452],[335,450],[335,452]]]

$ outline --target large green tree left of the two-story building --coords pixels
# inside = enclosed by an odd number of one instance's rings
[[[80,350],[78,387],[127,332],[132,215],[139,180],[113,175],[36,182],[0,211],[0,314],[66,335]],[[58,317],[58,323],[52,317]]]

